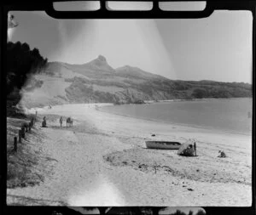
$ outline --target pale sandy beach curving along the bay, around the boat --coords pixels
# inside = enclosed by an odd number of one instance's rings
[[[7,190],[7,203],[67,206],[249,207],[252,137],[108,114],[100,104],[38,109],[44,182]],[[35,113],[35,109],[29,110]],[[59,125],[72,116],[73,127]],[[152,136],[154,134],[154,136]],[[146,140],[196,139],[196,157]],[[219,158],[224,150],[227,158]],[[45,162],[45,157],[49,157]],[[40,163],[40,161],[39,161]],[[43,166],[42,166],[43,167]]]

